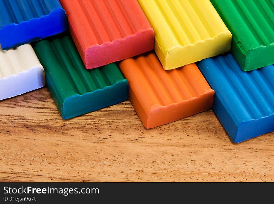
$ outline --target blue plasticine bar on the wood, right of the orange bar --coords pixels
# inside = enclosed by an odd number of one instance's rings
[[[213,111],[235,143],[274,130],[274,66],[245,72],[229,52],[197,63],[215,90]]]

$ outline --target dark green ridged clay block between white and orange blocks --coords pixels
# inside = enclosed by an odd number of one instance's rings
[[[116,64],[87,70],[69,34],[33,43],[46,84],[63,119],[128,99],[128,83]]]

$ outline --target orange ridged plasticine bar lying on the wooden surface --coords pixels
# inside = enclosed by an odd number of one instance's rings
[[[195,64],[165,71],[154,52],[119,63],[128,80],[130,102],[145,128],[211,108],[214,91]],[[193,80],[195,79],[195,80]]]

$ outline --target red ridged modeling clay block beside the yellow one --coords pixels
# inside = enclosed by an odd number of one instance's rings
[[[87,69],[152,50],[154,31],[136,0],[61,0]]]

